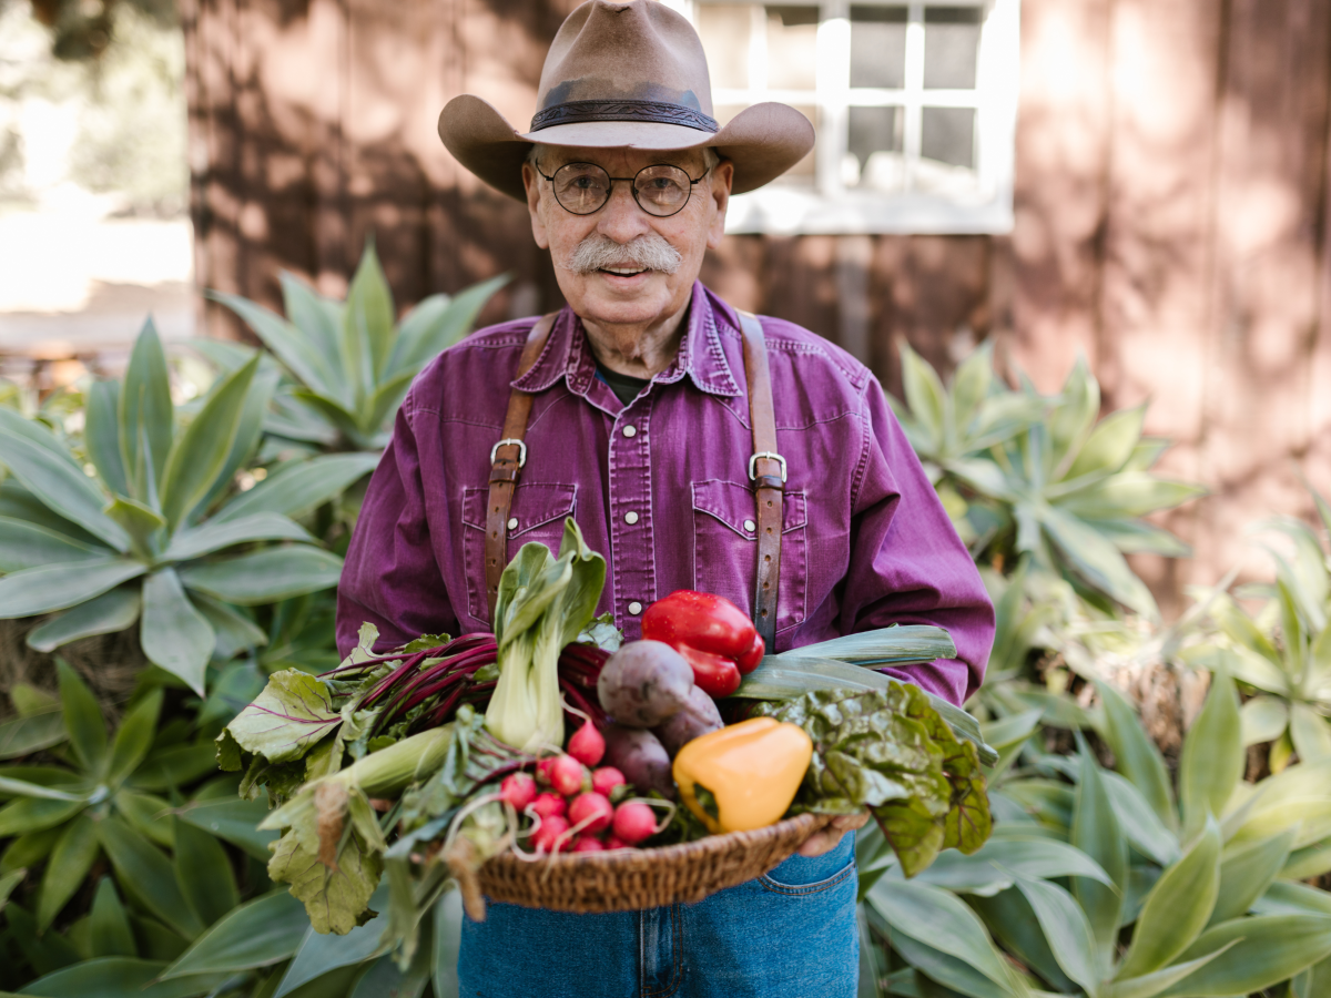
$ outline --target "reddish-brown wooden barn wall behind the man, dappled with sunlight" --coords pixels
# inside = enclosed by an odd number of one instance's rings
[[[277,306],[345,290],[374,236],[398,302],[500,271],[483,318],[556,306],[526,210],[443,150],[473,92],[526,121],[574,0],[184,0],[197,274]],[[978,339],[1054,390],[1085,353],[1106,410],[1150,401],[1165,467],[1211,498],[1142,559],[1166,608],[1247,559],[1243,530],[1331,491],[1326,251],[1331,0],[1024,0],[1017,224],[988,237],[731,237],[704,279],[898,385],[904,339]],[[217,306],[206,329],[240,335]]]

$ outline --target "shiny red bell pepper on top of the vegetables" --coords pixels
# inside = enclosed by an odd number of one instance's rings
[[[676,589],[643,613],[643,637],[664,641],[693,667],[693,683],[713,699],[729,696],[740,676],[763,661],[753,621],[724,596]]]

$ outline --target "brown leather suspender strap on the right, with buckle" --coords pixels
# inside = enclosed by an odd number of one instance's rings
[[[736,311],[739,311],[736,309]],[[781,579],[781,500],[785,495],[785,458],[776,451],[776,413],[772,375],[767,366],[763,323],[739,311],[744,330],[744,375],[748,379],[753,456],[748,475],[757,500],[757,582],[753,588],[753,624],[767,653],[776,653],[776,596]]]

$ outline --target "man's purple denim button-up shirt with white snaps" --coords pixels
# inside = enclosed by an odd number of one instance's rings
[[[628,406],[595,377],[564,309],[536,363],[512,381],[535,319],[445,350],[411,386],[370,480],[338,589],[338,647],[362,621],[379,647],[490,628],[484,526],[490,450],[511,386],[535,394],[508,556],[558,551],[566,516],[607,560],[598,612],[630,640],[675,589],[751,612],[757,563],[753,451],[735,311],[693,285],[679,355]],[[776,651],[888,624],[936,624],[956,661],[892,671],[952,703],[980,685],[994,613],[873,375],[821,337],[763,318],[776,434],[789,467]]]

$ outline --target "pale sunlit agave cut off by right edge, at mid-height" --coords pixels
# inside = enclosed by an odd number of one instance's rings
[[[1314,499],[1331,530],[1331,506],[1316,492]],[[1248,613],[1231,596],[1219,596],[1211,608],[1219,635],[1186,649],[1185,657],[1225,668],[1252,687],[1256,695],[1242,711],[1243,744],[1271,743],[1268,764],[1278,773],[1294,753],[1304,762],[1331,758],[1331,572],[1322,540],[1306,523],[1266,526],[1292,542],[1292,556],[1272,551],[1276,582],[1266,605]]]

